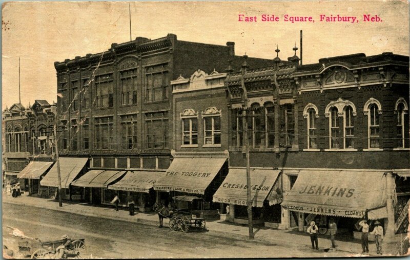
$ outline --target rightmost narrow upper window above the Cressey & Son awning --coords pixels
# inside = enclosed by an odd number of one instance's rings
[[[280,106],[280,143],[284,146],[291,147],[294,144],[294,133],[294,105],[285,104]]]

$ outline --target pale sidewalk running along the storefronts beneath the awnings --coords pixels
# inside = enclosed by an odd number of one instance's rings
[[[95,216],[101,218],[108,218],[113,220],[120,220],[126,222],[140,223],[145,225],[158,226],[158,215],[156,213],[141,213],[137,212],[134,216],[130,216],[127,209],[115,211],[112,207],[95,206],[89,203],[67,203],[63,202],[63,207],[58,207],[58,202],[54,199],[38,198],[27,196],[26,194],[18,198],[13,198],[3,193],[3,203],[10,203],[16,205],[26,205],[39,207],[49,210],[57,210],[80,214],[85,216]],[[168,220],[164,219],[163,225],[168,227]],[[248,240],[248,226],[229,223],[226,221],[210,221],[206,223],[207,229],[213,234],[235,235],[236,239]],[[171,232],[171,231],[170,231]],[[289,230],[278,230],[267,227],[254,227],[255,241],[261,243],[270,242],[279,245],[294,245],[310,250],[311,241],[308,234],[302,232],[295,232]],[[403,236],[404,239],[405,236]],[[359,256],[361,253],[360,241],[354,242],[336,241],[338,245],[337,251],[346,252],[346,256]],[[383,245],[383,256],[394,254],[396,243],[389,243]],[[330,237],[319,236],[320,249],[329,248],[331,245]],[[332,250],[332,249],[331,249]],[[370,256],[378,256],[376,254],[376,246],[371,242]],[[380,256],[380,255],[379,255]]]

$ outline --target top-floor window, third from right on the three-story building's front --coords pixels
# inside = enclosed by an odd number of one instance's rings
[[[96,107],[106,108],[114,106],[114,88],[112,74],[95,77]]]

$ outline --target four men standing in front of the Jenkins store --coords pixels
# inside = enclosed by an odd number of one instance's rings
[[[377,254],[383,254],[382,252],[382,241],[384,238],[383,227],[380,225],[379,221],[376,221],[374,225],[375,227],[373,231],[369,232],[369,225],[367,224],[367,220],[362,219],[362,221],[359,222],[359,226],[362,228],[362,235],[361,235],[361,245],[362,245],[362,250],[363,250],[362,253],[368,253],[368,234],[373,234],[375,235]],[[306,229],[306,232],[310,234],[312,248],[316,250],[319,249],[318,248],[318,238],[317,238],[318,231],[319,231],[319,228],[316,225],[315,221],[311,221],[310,226],[308,227],[308,229]],[[332,242],[332,248],[335,248],[337,247],[335,243],[335,237],[337,233],[337,224],[334,218],[330,219],[329,231],[330,231],[330,239]]]

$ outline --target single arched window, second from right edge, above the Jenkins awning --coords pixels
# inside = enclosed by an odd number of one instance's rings
[[[381,104],[377,99],[370,98],[363,108],[363,113],[367,115],[367,145],[369,149],[380,148],[380,114]]]

